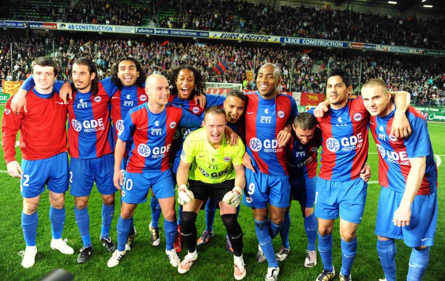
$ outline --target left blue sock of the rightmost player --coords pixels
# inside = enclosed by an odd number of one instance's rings
[[[377,254],[385,273],[386,281],[395,281],[395,254],[397,247],[393,239],[382,241],[377,239]]]

